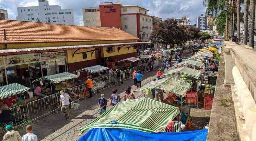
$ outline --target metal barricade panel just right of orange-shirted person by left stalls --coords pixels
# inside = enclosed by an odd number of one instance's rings
[[[92,92],[97,93],[98,91],[110,87],[110,77],[105,76],[93,81]]]

